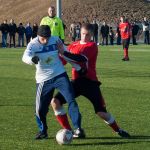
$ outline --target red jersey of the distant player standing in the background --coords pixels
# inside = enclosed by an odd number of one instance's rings
[[[120,23],[119,25],[120,34],[122,39],[128,39],[131,35],[131,26],[128,22]]]

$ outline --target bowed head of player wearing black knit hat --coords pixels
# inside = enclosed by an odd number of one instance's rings
[[[39,37],[39,42],[43,45],[48,43],[48,40],[51,36],[51,30],[48,25],[41,25],[38,29],[38,37]]]

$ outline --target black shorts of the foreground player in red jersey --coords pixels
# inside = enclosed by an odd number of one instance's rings
[[[92,104],[97,112],[107,112],[105,102],[100,90],[100,82],[92,81],[87,78],[78,78],[76,80],[71,81],[75,98],[82,95],[85,96]],[[65,104],[66,100],[64,97],[58,92],[55,95],[55,98],[59,99],[61,104]]]

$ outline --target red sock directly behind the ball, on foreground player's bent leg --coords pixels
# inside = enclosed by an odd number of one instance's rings
[[[67,114],[57,115],[56,118],[57,118],[57,121],[59,122],[59,124],[60,124],[64,129],[71,130],[71,126],[70,126],[70,124],[69,124]]]

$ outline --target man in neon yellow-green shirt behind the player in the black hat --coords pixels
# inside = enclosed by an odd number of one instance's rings
[[[52,36],[58,36],[64,43],[64,27],[62,20],[56,17],[55,7],[50,6],[48,8],[48,16],[41,20],[40,25],[48,25],[51,29]]]

